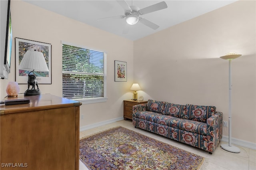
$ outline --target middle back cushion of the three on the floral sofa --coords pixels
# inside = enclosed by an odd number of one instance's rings
[[[186,115],[186,105],[177,105],[166,102],[163,114],[184,119]]]

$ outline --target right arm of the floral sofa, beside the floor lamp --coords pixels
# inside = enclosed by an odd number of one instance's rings
[[[222,112],[216,112],[207,119],[207,148],[213,152],[222,138]]]

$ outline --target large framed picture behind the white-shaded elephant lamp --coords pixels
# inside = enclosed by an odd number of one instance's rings
[[[15,81],[19,84],[28,83],[28,70],[20,70],[19,65],[27,50],[40,51],[44,55],[49,72],[33,71],[38,84],[52,84],[52,45],[22,38],[15,38]]]

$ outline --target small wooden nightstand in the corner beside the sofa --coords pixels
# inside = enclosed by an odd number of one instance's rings
[[[124,100],[124,120],[132,119],[132,106],[148,103],[148,101]]]

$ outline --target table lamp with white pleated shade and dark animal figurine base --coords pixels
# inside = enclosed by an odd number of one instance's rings
[[[38,88],[36,76],[30,73],[33,71],[49,71],[43,53],[36,50],[26,51],[20,62],[19,69],[30,70],[30,72],[28,73],[28,89],[24,92],[24,96],[40,95],[41,91]],[[32,89],[29,89],[30,85],[32,85]],[[35,86],[37,87],[37,89],[35,89]]]

